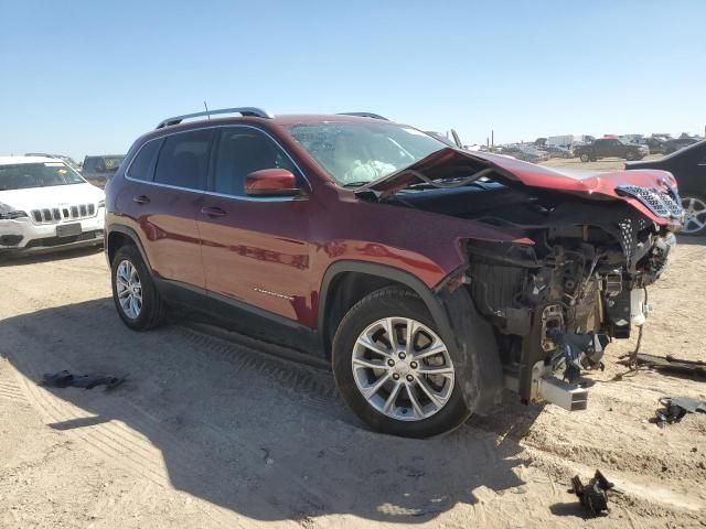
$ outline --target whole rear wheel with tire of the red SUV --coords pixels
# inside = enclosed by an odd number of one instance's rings
[[[122,323],[135,331],[157,327],[165,306],[137,247],[128,245],[116,251],[110,276],[113,301]]]

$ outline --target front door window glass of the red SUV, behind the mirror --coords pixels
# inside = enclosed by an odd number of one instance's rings
[[[298,174],[291,160],[264,132],[245,127],[228,127],[221,131],[213,191],[243,196],[245,177],[263,169],[287,169]]]

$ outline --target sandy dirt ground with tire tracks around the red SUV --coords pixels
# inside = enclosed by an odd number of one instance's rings
[[[600,162],[598,162],[600,163]],[[706,239],[683,237],[642,350],[704,359]],[[704,380],[616,379],[634,339],[589,375],[589,408],[523,407],[415,441],[367,432],[332,376],[185,319],[118,320],[103,253],[0,267],[1,528],[652,528],[706,526],[706,413],[660,429],[662,396]],[[43,373],[128,374],[111,392]],[[600,468],[622,494],[585,518],[567,492]]]

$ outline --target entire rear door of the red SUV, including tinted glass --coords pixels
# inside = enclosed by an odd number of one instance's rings
[[[152,269],[163,279],[202,289],[196,213],[206,187],[212,137],[206,129],[152,140],[126,172],[132,182],[126,198]]]

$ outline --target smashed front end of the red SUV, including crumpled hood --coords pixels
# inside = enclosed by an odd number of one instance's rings
[[[674,179],[644,171],[580,180],[449,151],[368,191],[513,234],[514,242],[464,239],[454,284],[492,323],[506,387],[525,403],[586,409],[581,371],[602,369],[607,345],[644,323],[646,288],[667,266],[684,215]]]

